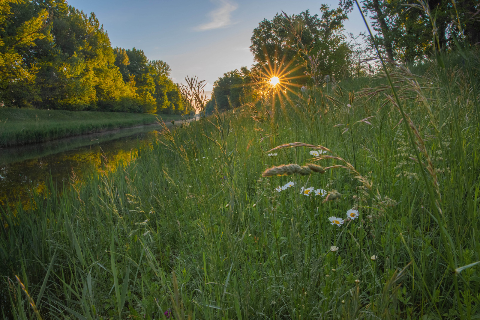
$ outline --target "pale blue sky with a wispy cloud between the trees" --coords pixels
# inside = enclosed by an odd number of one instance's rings
[[[251,67],[253,29],[271,20],[307,9],[320,13],[321,3],[337,0],[67,0],[89,14],[95,12],[113,47],[136,47],[149,59],[167,62],[174,82],[186,76],[207,80],[205,90],[227,71]],[[365,25],[358,11],[349,14],[345,31],[359,34]]]

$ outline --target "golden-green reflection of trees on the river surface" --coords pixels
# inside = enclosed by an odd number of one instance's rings
[[[0,206],[5,209],[8,205],[13,212],[18,205],[31,207],[32,191],[45,193],[50,178],[53,186],[61,190],[63,185],[79,183],[84,172],[89,170],[115,170],[120,161],[134,159],[139,147],[151,147],[155,134],[156,131],[150,131],[112,140],[103,138],[90,141],[89,138],[88,145],[84,145],[84,141],[78,142],[80,147],[71,144],[70,150],[47,155],[44,155],[45,150],[39,150],[41,156],[37,157],[29,150],[27,158],[31,159],[19,161],[17,157],[12,159],[14,162],[0,164]],[[98,141],[102,142],[94,144]],[[6,162],[8,156],[5,152],[10,150],[1,151],[1,158]]]

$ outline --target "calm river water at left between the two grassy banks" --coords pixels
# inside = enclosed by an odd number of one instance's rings
[[[107,161],[129,161],[138,147],[152,143],[160,126],[149,125],[0,149],[0,206],[28,208],[32,191],[42,193],[48,180],[58,187],[81,177],[85,168]]]

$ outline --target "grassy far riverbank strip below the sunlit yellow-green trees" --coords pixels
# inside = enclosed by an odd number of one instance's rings
[[[175,114],[0,108],[0,147],[45,142],[118,128],[180,120]]]

